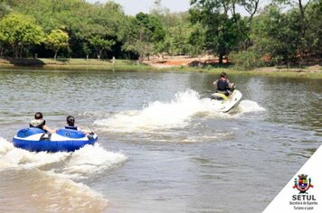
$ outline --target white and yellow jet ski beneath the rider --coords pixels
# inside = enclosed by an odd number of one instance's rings
[[[240,103],[242,93],[233,87],[228,97],[223,93],[213,93],[211,99],[215,101],[215,106],[218,106],[219,112],[228,113],[234,106]]]

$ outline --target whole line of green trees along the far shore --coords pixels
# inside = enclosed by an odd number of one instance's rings
[[[0,0],[0,57],[207,53],[245,68],[320,63],[322,1],[260,1],[191,0],[189,11],[170,13],[156,0],[149,14],[132,16],[113,1]]]

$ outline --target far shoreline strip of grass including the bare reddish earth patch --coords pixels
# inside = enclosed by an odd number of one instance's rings
[[[232,64],[219,65],[212,56],[198,58],[188,56],[172,56],[163,59],[151,57],[139,63],[138,60],[97,60],[97,59],[32,59],[21,58],[0,59],[1,68],[39,68],[39,69],[114,69],[114,70],[159,70],[159,71],[198,71],[245,73],[245,74],[279,74],[281,76],[310,76],[322,79],[322,67],[319,65],[303,67],[262,67],[242,69]]]

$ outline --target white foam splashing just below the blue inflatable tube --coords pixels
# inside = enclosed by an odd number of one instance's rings
[[[68,178],[85,179],[90,174],[104,171],[114,165],[127,161],[123,153],[112,153],[104,150],[99,144],[86,145],[73,153],[32,153],[15,148],[13,144],[0,138],[1,169],[42,169],[50,166],[51,171]],[[60,165],[51,166],[51,164]]]

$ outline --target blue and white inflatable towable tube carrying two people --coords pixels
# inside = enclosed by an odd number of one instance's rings
[[[72,129],[58,129],[54,134],[47,134],[39,128],[24,128],[13,138],[13,144],[31,152],[74,152],[86,144],[95,144],[97,134],[84,134]]]

